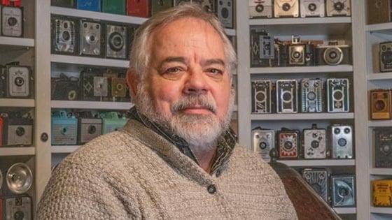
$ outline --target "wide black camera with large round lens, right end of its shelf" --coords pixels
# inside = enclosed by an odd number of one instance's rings
[[[328,41],[327,44],[317,45],[315,51],[318,66],[351,63],[351,46],[339,43],[339,41]]]

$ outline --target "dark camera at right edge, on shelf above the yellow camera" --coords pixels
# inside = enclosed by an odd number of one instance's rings
[[[373,129],[376,168],[392,168],[392,127]]]

